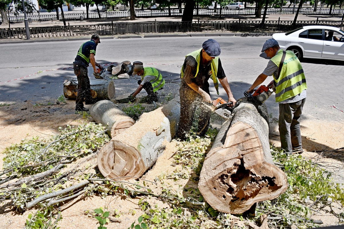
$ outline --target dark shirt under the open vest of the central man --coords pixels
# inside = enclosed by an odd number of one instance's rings
[[[201,54],[202,55],[202,54]],[[197,76],[195,77],[197,71],[197,61],[193,56],[187,56],[184,60],[184,77],[182,81],[190,84],[192,82],[196,83],[200,88],[208,88],[209,83],[208,79],[211,77],[211,61],[207,63],[202,62],[202,57],[200,59],[200,68],[198,69]],[[217,78],[225,78],[225,72],[222,68],[221,60],[218,59],[218,69],[217,69]]]

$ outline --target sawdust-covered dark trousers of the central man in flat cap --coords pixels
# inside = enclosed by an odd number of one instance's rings
[[[202,88],[210,95],[209,87]],[[200,94],[190,88],[184,81],[181,82],[180,93],[180,119],[177,137],[185,139],[185,135],[190,133],[196,108],[201,104],[203,98]],[[197,135],[204,136],[209,128],[211,110],[202,108],[198,117]]]

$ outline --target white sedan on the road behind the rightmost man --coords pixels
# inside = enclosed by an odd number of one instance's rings
[[[309,25],[288,33],[275,33],[272,38],[280,48],[292,50],[299,59],[344,60],[344,31],[340,28]]]

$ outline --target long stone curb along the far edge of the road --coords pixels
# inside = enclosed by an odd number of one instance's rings
[[[273,33],[204,33],[204,34],[158,34],[158,35],[144,35],[144,36],[119,36],[119,37],[102,37],[101,39],[127,39],[127,38],[158,38],[158,37],[210,37],[210,36],[240,36],[240,37],[258,37],[258,36],[272,36]],[[36,43],[36,42],[58,42],[58,41],[84,41],[87,38],[66,38],[66,39],[42,39],[29,41],[0,41],[0,45],[4,44],[20,44],[20,43]]]

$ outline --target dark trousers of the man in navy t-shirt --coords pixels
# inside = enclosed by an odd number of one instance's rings
[[[84,107],[83,101],[91,103],[91,86],[89,84],[87,67],[73,64],[74,74],[78,79],[78,89],[75,99],[75,106]]]

